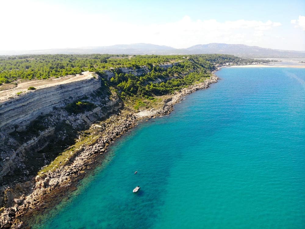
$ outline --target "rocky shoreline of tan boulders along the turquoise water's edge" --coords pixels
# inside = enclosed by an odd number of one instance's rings
[[[10,207],[0,210],[1,228],[29,227],[29,222],[35,215],[48,210],[71,191],[76,190],[78,181],[83,179],[88,171],[101,164],[109,144],[114,143],[115,139],[135,127],[138,121],[143,118],[170,114],[174,104],[178,103],[183,96],[199,89],[206,89],[211,83],[217,81],[218,77],[213,74],[204,82],[175,92],[170,99],[164,100],[164,105],[160,109],[140,111],[136,114],[126,109],[118,110],[117,114],[110,116],[108,122],[101,122],[100,125],[93,124],[92,134],[98,136],[93,144],[85,144],[75,149],[77,153],[73,157],[66,158],[66,163],[54,171],[41,173],[32,180],[6,187],[5,201]]]

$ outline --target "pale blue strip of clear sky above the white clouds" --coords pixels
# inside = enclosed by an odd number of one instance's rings
[[[188,15],[194,19],[226,20],[283,20],[305,13],[305,1],[126,1],[126,0],[68,0],[45,1],[62,3],[87,12],[114,14],[118,19],[135,23],[163,23]],[[139,20],[141,18],[141,20]],[[290,20],[288,20],[288,24]]]

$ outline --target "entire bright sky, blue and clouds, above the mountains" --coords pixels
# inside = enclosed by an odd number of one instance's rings
[[[0,9],[10,18],[1,50],[138,42],[305,50],[305,1],[10,0]]]

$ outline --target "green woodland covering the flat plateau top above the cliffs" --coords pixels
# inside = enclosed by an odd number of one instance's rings
[[[184,65],[172,68],[171,72],[184,71],[189,68],[190,61],[200,62],[202,67],[212,70],[213,64],[223,64],[227,62],[239,63],[242,60],[239,57],[231,55],[189,55],[188,59],[181,55],[109,55],[109,54],[88,54],[88,55],[20,55],[20,56],[0,56],[0,84],[9,83],[19,79],[46,79],[50,77],[61,77],[65,75],[75,75],[82,71],[96,71],[119,67],[140,68],[147,66],[153,70],[154,65],[168,63],[173,61],[183,61]],[[254,60],[246,60],[253,62]],[[196,67],[196,66],[192,66]],[[197,66],[198,67],[198,66]],[[156,78],[160,76],[160,71],[154,69],[149,77]],[[162,74],[165,74],[162,72]],[[128,77],[128,76],[126,76]],[[167,77],[167,75],[163,75]],[[146,80],[146,79],[142,79]],[[120,83],[120,82],[119,82]]]

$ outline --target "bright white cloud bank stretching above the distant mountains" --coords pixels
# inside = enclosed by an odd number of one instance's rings
[[[196,44],[244,43],[264,46],[267,31],[279,22],[260,20],[181,20],[147,24],[116,21],[115,15],[90,14],[41,1],[1,1],[0,50],[47,49],[152,43],[186,48]],[[12,10],[13,9],[13,10]],[[302,16],[304,17],[304,16]],[[298,23],[300,24],[300,17]],[[297,23],[297,22],[296,22]],[[248,42],[251,41],[251,42]]]

